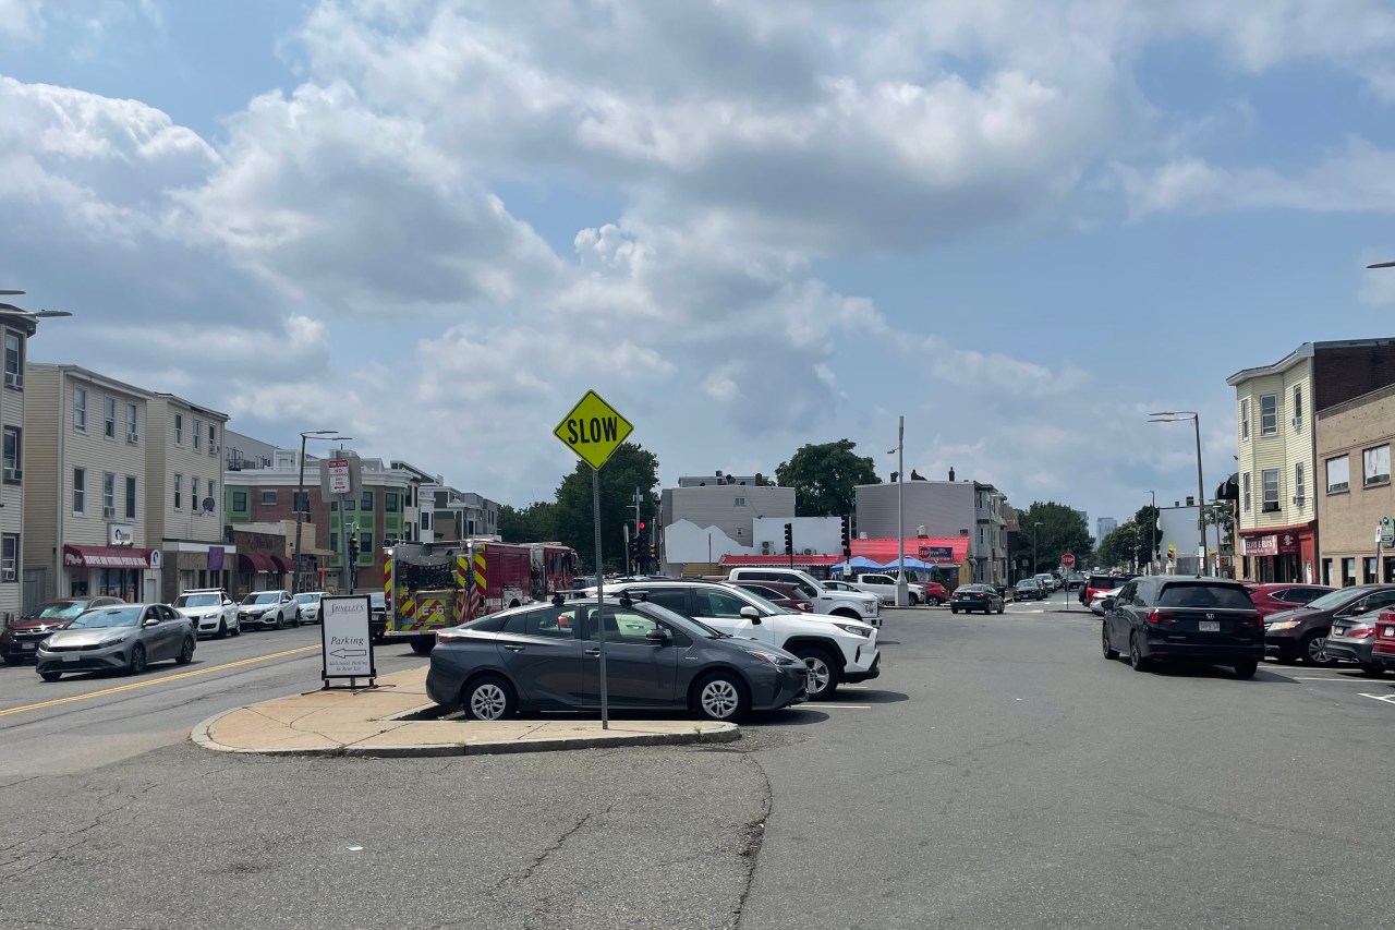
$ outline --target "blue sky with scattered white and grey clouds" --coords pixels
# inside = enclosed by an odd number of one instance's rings
[[[0,0],[0,288],[82,364],[550,500],[851,438],[1129,518],[1395,335],[1389,0]]]

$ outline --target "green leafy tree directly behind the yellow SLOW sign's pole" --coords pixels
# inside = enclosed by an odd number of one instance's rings
[[[635,521],[635,489],[640,493],[640,519],[651,524],[658,510],[654,489],[658,486],[658,459],[635,443],[622,443],[601,468],[601,554],[605,566],[625,564],[625,522]],[[591,466],[576,462],[576,469],[557,487],[554,539],[571,546],[585,564],[596,561],[596,524],[591,518]],[[649,538],[654,538],[649,528]]]

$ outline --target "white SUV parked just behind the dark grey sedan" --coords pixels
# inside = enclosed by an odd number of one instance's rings
[[[809,666],[812,700],[830,697],[843,681],[866,681],[882,673],[876,627],[858,620],[785,612],[721,581],[632,581],[605,585],[605,593],[643,598],[723,633],[792,652]]]

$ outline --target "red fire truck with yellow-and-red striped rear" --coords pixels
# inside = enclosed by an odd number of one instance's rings
[[[402,542],[382,563],[384,637],[427,655],[437,630],[571,588],[576,553],[558,543]]]

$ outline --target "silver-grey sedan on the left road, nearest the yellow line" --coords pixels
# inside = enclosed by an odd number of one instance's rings
[[[39,644],[38,669],[45,681],[64,672],[126,669],[140,674],[151,662],[194,660],[197,637],[188,617],[163,603],[121,603],[88,610]]]

